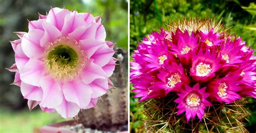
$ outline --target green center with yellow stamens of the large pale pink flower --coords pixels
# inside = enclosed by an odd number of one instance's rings
[[[50,43],[45,50],[45,66],[57,79],[72,79],[79,75],[85,65],[84,51],[76,40],[62,37]]]

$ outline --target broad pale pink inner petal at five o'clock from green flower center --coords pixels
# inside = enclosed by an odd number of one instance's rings
[[[62,91],[67,101],[74,102],[80,108],[86,108],[91,101],[91,87],[84,84],[80,79],[64,83]]]

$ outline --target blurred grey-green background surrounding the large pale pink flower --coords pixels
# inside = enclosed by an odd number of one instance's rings
[[[0,132],[37,132],[43,125],[66,121],[55,113],[43,113],[39,107],[31,112],[18,86],[10,85],[14,72],[9,68],[14,60],[10,40],[18,39],[13,32],[28,32],[28,20],[37,20],[38,12],[45,14],[51,7],[78,12],[103,14],[106,40],[117,42],[116,47],[128,48],[128,5],[125,0],[0,0]],[[27,20],[28,19],[28,20]]]

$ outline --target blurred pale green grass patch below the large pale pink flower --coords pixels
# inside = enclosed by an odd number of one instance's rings
[[[14,112],[8,108],[1,108],[0,132],[39,132],[39,129],[44,125],[67,121],[60,117],[57,112],[44,113],[39,110],[39,107],[37,108],[37,110],[33,110],[32,112],[29,112],[29,109]]]

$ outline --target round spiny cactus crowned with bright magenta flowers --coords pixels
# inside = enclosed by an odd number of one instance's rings
[[[131,83],[144,107],[144,129],[248,132],[256,98],[253,50],[211,19],[180,19],[152,32],[134,51]]]

